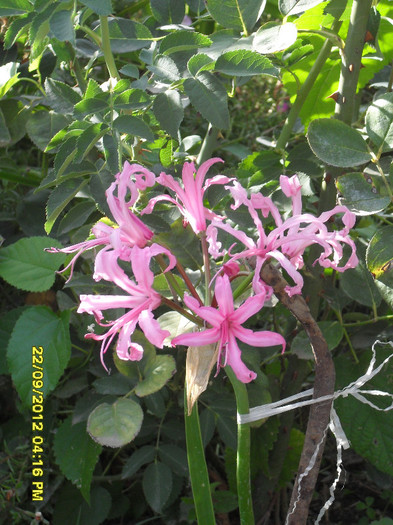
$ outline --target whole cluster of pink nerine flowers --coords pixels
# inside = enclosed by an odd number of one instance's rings
[[[142,358],[143,348],[132,341],[132,334],[137,325],[146,338],[159,348],[163,347],[166,338],[171,337],[171,334],[163,330],[154,318],[153,312],[162,303],[163,298],[153,287],[154,273],[151,269],[153,258],[160,257],[161,268],[162,256],[168,258],[169,262],[163,269],[164,273],[170,272],[177,266],[180,275],[185,277],[185,284],[191,295],[184,294],[184,297],[177,298],[182,301],[184,307],[179,306],[178,302],[172,304],[186,314],[185,308],[187,308],[189,310],[187,316],[195,316],[195,320],[205,327],[204,330],[177,335],[172,339],[172,346],[217,344],[217,371],[221,366],[229,365],[237,378],[244,383],[255,379],[256,374],[242,361],[237,340],[251,346],[277,345],[281,346],[283,351],[285,349],[282,335],[270,331],[253,331],[242,326],[247,319],[260,311],[272,293],[271,288],[260,277],[263,264],[269,259],[274,259],[288,273],[294,282],[293,286],[287,287],[289,295],[301,293],[303,278],[299,270],[304,264],[304,251],[310,245],[321,246],[322,252],[315,263],[318,262],[325,268],[331,267],[344,271],[356,266],[355,245],[349,236],[350,229],[355,223],[355,216],[347,208],[336,206],[319,217],[302,213],[301,185],[298,177],[281,176],[281,190],[292,201],[292,215],[284,219],[271,198],[259,193],[248,196],[236,179],[216,175],[205,181],[209,168],[218,162],[222,160],[210,159],[198,170],[193,163],[186,162],[182,172],[183,186],[171,175],[161,173],[156,177],[146,168],[126,162],[123,171],[116,175],[115,181],[106,192],[114,222],[108,219],[99,221],[92,229],[92,238],[60,250],[65,253],[75,253],[65,268],[71,269],[71,277],[77,258],[86,250],[100,248],[95,256],[93,278],[96,281],[103,279],[111,282],[123,292],[119,295],[81,295],[80,297],[78,312],[94,315],[98,325],[107,329],[101,334],[86,334],[87,338],[101,341],[103,363],[104,354],[116,337],[116,352],[120,359]],[[152,198],[138,216],[135,205],[140,192],[157,183],[165,193]],[[253,237],[237,229],[225,216],[217,215],[205,207],[204,193],[213,184],[224,185],[233,198],[234,210],[240,206],[246,207],[255,225]],[[219,269],[210,282],[210,287],[214,288],[210,304],[203,304],[191,281],[186,278],[185,270],[176,261],[176,257],[168,248],[154,242],[154,232],[143,223],[141,217],[152,213],[158,202],[169,202],[177,206],[183,216],[184,225],[189,224],[201,242],[205,243],[203,246],[205,271],[210,270],[211,265],[211,260],[207,257],[220,258],[220,260],[224,258],[225,263],[217,265]],[[326,223],[336,214],[342,214],[343,227],[340,230],[330,231]],[[263,219],[269,215],[273,218],[275,227],[266,231]],[[235,245],[229,250],[223,249],[218,240],[219,231],[224,231],[235,241],[240,241],[244,249],[236,253],[233,253]],[[346,263],[340,266],[345,245],[349,247],[350,255]],[[51,248],[49,251],[58,250]],[[239,270],[250,260],[255,267],[252,280],[253,295],[236,308],[231,281],[244,275],[244,272]],[[246,265],[246,268],[248,267]],[[129,269],[133,279],[123,268]],[[210,297],[210,294],[206,297]],[[166,300],[166,304],[170,303],[171,301]],[[103,312],[115,308],[124,308],[124,315],[105,321]]]

